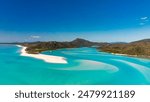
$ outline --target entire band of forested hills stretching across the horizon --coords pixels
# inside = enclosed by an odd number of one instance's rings
[[[21,46],[24,46],[26,47],[26,52],[29,54],[39,54],[43,51],[56,50],[61,48],[96,47],[99,51],[103,52],[150,58],[150,39],[144,39],[130,43],[107,43],[92,42],[85,39],[77,38],[70,42],[49,41],[5,44],[19,44]]]

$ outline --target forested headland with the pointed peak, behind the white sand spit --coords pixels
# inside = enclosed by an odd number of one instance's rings
[[[22,46],[27,47],[26,51],[29,54],[39,54],[42,51],[56,50],[61,48],[78,48],[78,47],[92,47],[92,46],[104,46],[108,43],[103,42],[91,42],[85,39],[77,38],[70,42],[34,42],[34,43],[23,43]]]

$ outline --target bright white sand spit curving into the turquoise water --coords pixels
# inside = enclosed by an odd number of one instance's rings
[[[36,58],[36,59],[41,59],[41,60],[44,60],[45,62],[48,62],[48,63],[67,64],[67,61],[65,60],[64,57],[45,55],[45,54],[28,54],[26,52],[27,47],[24,47],[21,45],[17,45],[17,46],[22,48],[21,49],[21,56],[27,56],[27,57],[32,57],[32,58]]]

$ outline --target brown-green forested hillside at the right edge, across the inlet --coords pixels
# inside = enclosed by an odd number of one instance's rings
[[[100,50],[110,53],[127,54],[140,57],[150,56],[150,39],[139,40],[131,43],[107,44]]]

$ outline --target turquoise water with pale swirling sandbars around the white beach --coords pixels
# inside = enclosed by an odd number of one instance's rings
[[[150,85],[150,60],[99,52],[95,48],[59,49],[68,64],[20,56],[21,48],[0,45],[0,84]]]

